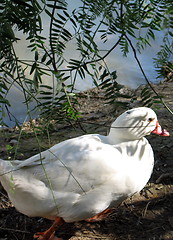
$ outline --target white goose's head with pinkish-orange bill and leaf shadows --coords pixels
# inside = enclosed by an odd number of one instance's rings
[[[168,136],[166,130],[162,130],[156,113],[147,107],[130,109],[121,114],[111,125],[108,138],[110,142],[139,140],[150,133]]]

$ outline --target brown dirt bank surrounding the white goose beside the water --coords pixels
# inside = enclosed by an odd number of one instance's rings
[[[164,82],[155,88],[173,109],[173,83]],[[105,105],[100,91],[92,90],[81,95],[80,110],[83,114],[80,125],[54,124],[49,138],[42,133],[38,134],[37,140],[27,126],[21,136],[14,128],[1,131],[0,157],[13,158],[16,144],[17,158],[25,159],[39,151],[38,141],[43,150],[64,139],[85,134],[84,130],[87,133],[107,134],[110,123],[122,109],[115,111]],[[132,107],[139,105],[138,96]],[[113,209],[102,222],[83,221],[63,225],[57,232],[59,237],[64,240],[173,240],[173,116],[163,106],[154,110],[160,124],[170,132],[170,137],[148,137],[155,153],[155,167],[146,188]],[[35,232],[44,231],[50,225],[49,220],[29,218],[17,212],[1,187],[0,240],[31,240]]]

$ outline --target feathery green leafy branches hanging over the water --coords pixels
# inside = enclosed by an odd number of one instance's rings
[[[29,103],[35,101],[37,111],[47,119],[77,119],[77,79],[82,84],[83,79],[91,78],[96,86],[100,79],[110,104],[119,98],[127,99],[121,94],[115,72],[109,71],[106,57],[119,45],[124,56],[132,48],[139,64],[137,52],[150,46],[156,31],[165,28],[164,45],[156,61],[161,67],[172,53],[172,13],[172,0],[81,0],[80,7],[72,12],[65,0],[1,0],[0,124],[5,124],[5,112],[10,114],[7,95],[14,85],[23,92],[30,118]],[[15,46],[21,41],[18,32],[26,36],[27,51],[32,53],[29,60],[17,55]],[[103,52],[114,36],[115,44]],[[68,53],[69,44],[76,57]],[[45,79],[50,83],[45,84]]]

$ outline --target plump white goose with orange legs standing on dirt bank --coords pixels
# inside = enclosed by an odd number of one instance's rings
[[[108,136],[83,135],[24,161],[0,160],[0,181],[18,211],[55,220],[35,239],[59,239],[59,225],[100,220],[145,186],[154,164],[144,138],[151,132],[169,135],[153,110],[134,108],[113,122]]]

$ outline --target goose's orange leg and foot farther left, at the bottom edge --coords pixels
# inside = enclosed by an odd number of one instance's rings
[[[34,239],[37,240],[62,240],[62,238],[57,238],[54,236],[55,231],[58,229],[59,226],[64,224],[64,220],[62,218],[57,217],[52,224],[52,226],[46,230],[45,232],[38,232],[34,234]]]

